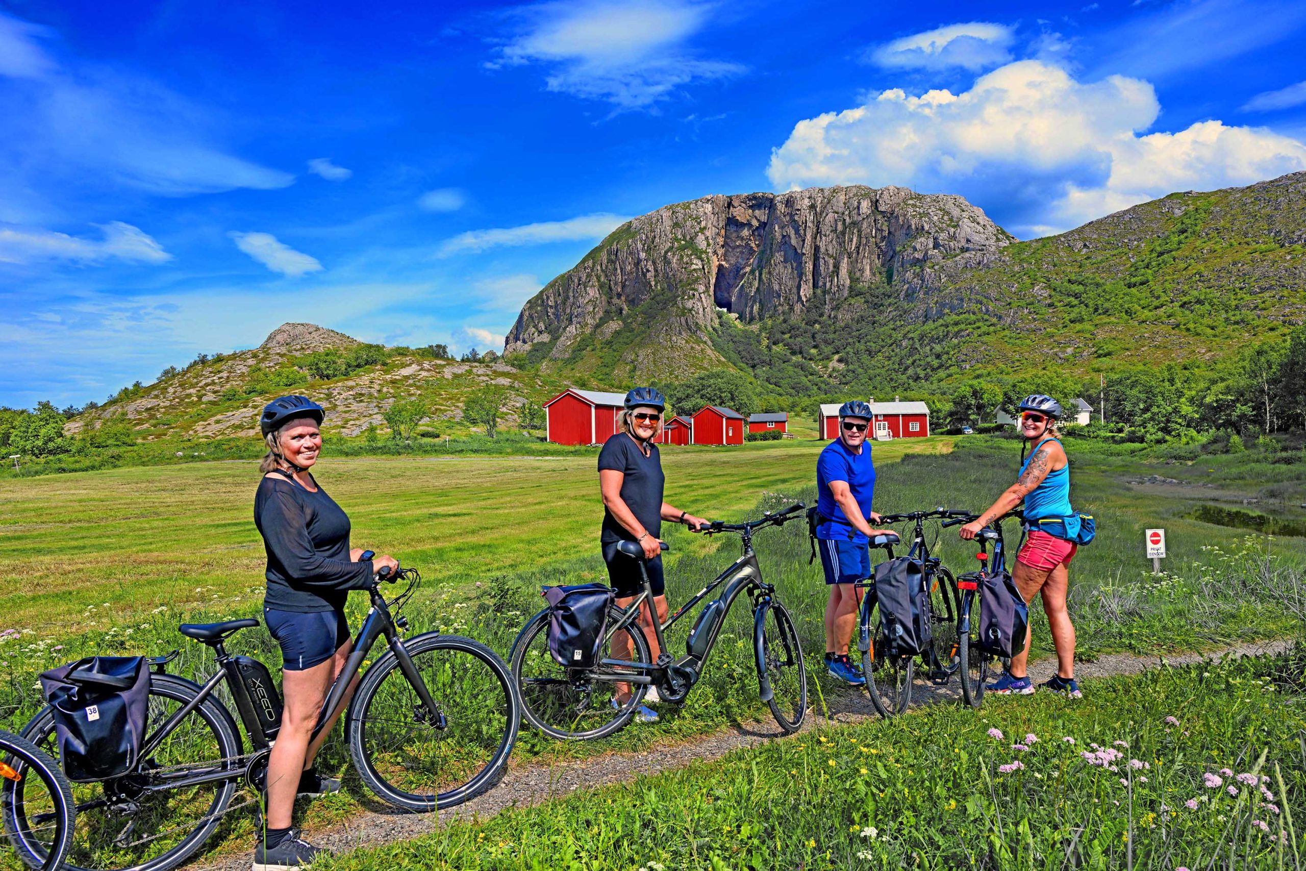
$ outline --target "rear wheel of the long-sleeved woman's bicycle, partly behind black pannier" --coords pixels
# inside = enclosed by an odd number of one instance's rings
[[[150,675],[146,722],[151,734],[197,693],[199,688],[189,680],[167,674]],[[37,714],[22,734],[43,752],[57,757],[50,708]],[[187,778],[223,772],[230,772],[230,780],[184,784]],[[138,759],[127,774],[72,785],[77,819],[64,867],[73,871],[167,871],[178,867],[218,828],[243,774],[235,725],[210,696],[178,721],[158,747]],[[14,787],[13,806],[25,807],[26,802],[26,789],[20,782]],[[18,837],[24,837],[21,832]],[[30,851],[38,847],[29,845]]]

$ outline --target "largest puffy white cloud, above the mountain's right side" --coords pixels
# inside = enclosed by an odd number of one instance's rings
[[[1037,60],[970,90],[900,89],[799,121],[772,151],[777,188],[902,184],[1002,202],[1017,235],[1066,230],[1175,189],[1211,189],[1306,168],[1306,145],[1263,128],[1203,121],[1141,135],[1160,112],[1145,81],[1080,82]]]

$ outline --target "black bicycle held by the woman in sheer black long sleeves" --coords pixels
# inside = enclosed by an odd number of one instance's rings
[[[380,582],[398,580],[407,586],[387,601]],[[407,619],[400,611],[419,584],[415,569],[383,571],[374,578],[371,610],[312,736],[343,708],[354,675],[384,637],[389,649],[363,673],[345,717],[349,753],[363,784],[383,800],[434,811],[466,802],[496,782],[516,743],[521,710],[508,669],[490,648],[436,632],[401,636]],[[281,699],[266,666],[225,648],[232,635],[257,626],[259,620],[242,619],[179,627],[217,658],[217,673],[202,687],[167,674],[178,650],[149,659],[150,726],[137,763],[120,777],[74,787],[78,823],[68,867],[175,868],[226,814],[259,802],[231,806],[239,785],[255,795],[263,786],[281,725]],[[77,671],[68,680],[77,683]],[[222,684],[244,725],[249,752],[243,752],[235,720],[214,695]],[[47,752],[54,748],[50,708],[26,725],[24,736]],[[20,789],[14,804],[25,803]]]

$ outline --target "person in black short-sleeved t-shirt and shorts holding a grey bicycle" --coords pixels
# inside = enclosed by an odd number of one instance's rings
[[[598,486],[603,495],[603,531],[599,543],[607,578],[616,592],[616,603],[626,607],[640,593],[640,567],[629,556],[616,551],[622,541],[639,542],[644,548],[649,586],[657,606],[658,620],[666,620],[667,607],[662,576],[662,521],[674,520],[697,531],[707,521],[680,511],[662,500],[662,460],[653,440],[662,431],[662,410],[666,398],[656,389],[637,387],[626,394],[626,410],[618,415],[618,432],[603,443],[598,453]],[[649,640],[650,653],[657,661],[661,650],[653,632],[653,614],[645,605],[640,609],[639,623]],[[618,633],[613,639],[613,656],[629,659],[629,639]],[[650,688],[649,701],[657,701]],[[631,697],[631,687],[616,684],[616,704],[624,705]],[[640,706],[639,720],[652,722],[657,714]]]

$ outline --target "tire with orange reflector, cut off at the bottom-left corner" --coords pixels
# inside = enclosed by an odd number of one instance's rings
[[[77,806],[73,800],[72,784],[68,782],[59,763],[26,738],[0,731],[0,752],[4,753],[4,764],[8,767],[8,770],[4,772],[5,780],[0,786],[0,808],[4,814],[5,836],[13,845],[14,853],[29,868],[54,871],[63,866],[73,842]],[[38,846],[42,840],[31,829],[30,823],[34,820],[29,819],[27,802],[14,800],[17,785],[31,774],[35,774],[50,793],[51,810],[42,816],[52,815],[54,827],[44,850]],[[51,827],[43,825],[42,828],[50,829]],[[26,834],[20,836],[20,832]]]

